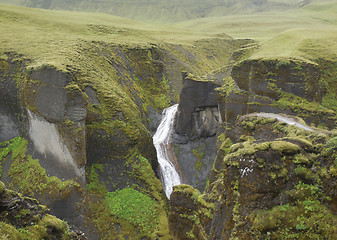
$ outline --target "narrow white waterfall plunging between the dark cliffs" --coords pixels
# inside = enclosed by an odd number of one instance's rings
[[[172,193],[173,186],[181,184],[180,176],[170,160],[174,156],[170,139],[177,110],[178,104],[164,109],[161,122],[153,136],[153,144],[157,150],[164,190],[168,198]]]

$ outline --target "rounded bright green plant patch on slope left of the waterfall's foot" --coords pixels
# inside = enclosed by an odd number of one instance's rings
[[[157,202],[132,189],[107,193],[105,200],[111,214],[139,226],[142,234],[150,236],[157,228]]]

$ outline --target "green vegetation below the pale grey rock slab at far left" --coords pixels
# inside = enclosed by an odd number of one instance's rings
[[[7,159],[11,153],[11,166],[8,176],[11,179],[11,188],[28,196],[45,195],[50,198],[64,198],[72,189],[80,186],[72,180],[62,181],[58,177],[49,177],[46,170],[41,167],[38,159],[26,155],[27,140],[16,137],[1,143],[1,160]],[[9,160],[7,160],[9,161]]]

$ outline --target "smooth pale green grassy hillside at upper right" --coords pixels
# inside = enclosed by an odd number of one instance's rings
[[[315,29],[336,26],[335,1],[312,2],[302,8],[285,12],[262,12],[251,15],[200,18],[176,26],[204,33],[227,33],[234,38],[267,40],[289,29]]]

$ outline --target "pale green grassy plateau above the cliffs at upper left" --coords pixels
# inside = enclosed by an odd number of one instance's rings
[[[16,51],[39,66],[65,69],[78,57],[83,41],[145,46],[191,44],[207,34],[171,26],[154,26],[101,13],[50,11],[0,4],[0,52]]]

